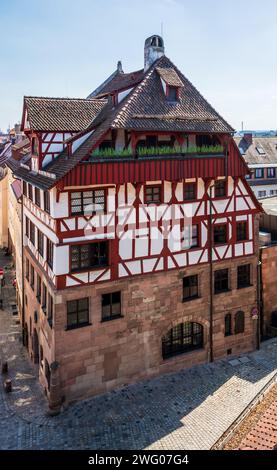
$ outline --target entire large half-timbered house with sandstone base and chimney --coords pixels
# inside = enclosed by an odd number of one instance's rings
[[[261,208],[161,37],[88,99],[26,97],[22,130],[22,326],[50,408],[256,347]]]

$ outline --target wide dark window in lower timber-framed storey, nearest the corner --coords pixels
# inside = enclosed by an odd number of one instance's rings
[[[71,246],[71,271],[108,265],[108,242]]]

